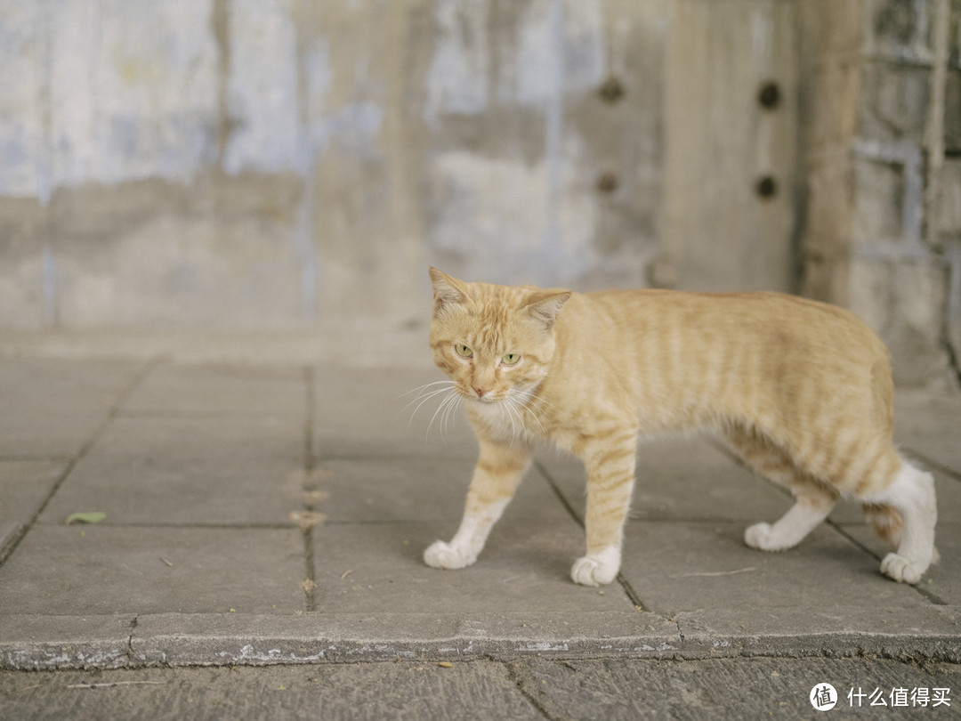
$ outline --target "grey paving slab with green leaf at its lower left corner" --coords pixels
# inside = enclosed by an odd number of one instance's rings
[[[282,524],[303,507],[305,429],[276,416],[120,416],[73,468],[41,521]]]

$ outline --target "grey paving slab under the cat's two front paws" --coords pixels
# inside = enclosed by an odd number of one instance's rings
[[[592,611],[632,608],[616,585],[572,584],[580,554],[577,526],[507,526],[469,568],[427,566],[424,549],[438,524],[329,526],[314,531],[317,609],[375,612]],[[603,594],[603,595],[602,595]]]

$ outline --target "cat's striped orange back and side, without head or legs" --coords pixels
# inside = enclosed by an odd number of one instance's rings
[[[648,407],[660,398],[665,412],[743,416],[826,397],[890,425],[887,350],[836,306],[775,292],[612,290],[575,294],[557,325],[580,372],[603,366],[618,379],[611,387]]]

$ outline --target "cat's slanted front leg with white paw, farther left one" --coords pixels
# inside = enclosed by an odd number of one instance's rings
[[[438,540],[428,546],[424,562],[434,568],[463,568],[477,560],[529,463],[530,451],[526,448],[481,441],[460,528],[450,542]]]

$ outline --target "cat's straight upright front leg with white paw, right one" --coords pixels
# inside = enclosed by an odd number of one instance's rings
[[[604,435],[583,455],[587,468],[587,555],[571,569],[576,584],[604,585],[621,570],[621,544],[634,485],[637,439],[630,433]]]

